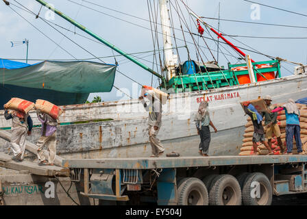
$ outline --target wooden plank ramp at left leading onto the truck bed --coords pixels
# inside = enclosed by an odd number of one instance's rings
[[[69,168],[62,168],[60,166],[38,166],[34,162],[15,162],[9,155],[0,152],[0,167],[10,168],[12,170],[25,170],[34,175],[45,177],[69,177]]]

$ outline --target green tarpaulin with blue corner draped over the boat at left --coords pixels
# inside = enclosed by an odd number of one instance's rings
[[[97,62],[44,61],[25,64],[0,60],[0,83],[60,92],[110,92],[116,65]]]

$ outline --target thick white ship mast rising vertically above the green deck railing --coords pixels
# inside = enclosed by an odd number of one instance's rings
[[[177,64],[177,55],[174,55],[172,49],[173,44],[171,42],[171,25],[169,22],[169,9],[167,8],[168,2],[168,0],[159,0],[163,34],[164,69],[167,70],[167,81],[175,76],[175,66]]]

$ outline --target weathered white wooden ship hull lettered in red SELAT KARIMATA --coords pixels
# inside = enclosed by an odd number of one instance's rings
[[[262,81],[243,86],[216,90],[171,94],[162,114],[158,138],[166,153],[176,151],[182,156],[198,155],[199,136],[193,121],[201,101],[209,101],[210,118],[218,132],[211,129],[209,155],[237,155],[243,140],[247,116],[240,102],[269,94],[273,103],[284,103],[289,98],[307,96],[307,75],[293,75],[282,79]],[[63,106],[60,120],[69,123],[79,120],[112,118],[110,121],[61,125],[58,127],[57,150],[62,157],[146,157],[151,155],[147,116],[137,99]],[[39,124],[34,114],[34,124]],[[10,123],[0,112],[1,127]],[[36,142],[40,130],[34,129],[29,140]],[[10,146],[2,142],[5,147]]]

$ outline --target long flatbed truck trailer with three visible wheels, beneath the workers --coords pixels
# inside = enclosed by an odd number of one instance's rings
[[[307,192],[307,155],[63,159],[83,196],[119,205],[271,205]]]

